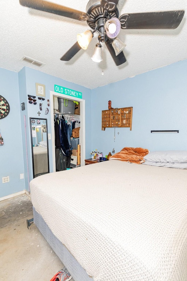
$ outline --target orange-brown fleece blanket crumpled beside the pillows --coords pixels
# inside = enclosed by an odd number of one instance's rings
[[[143,159],[149,153],[148,149],[141,147],[124,147],[120,152],[115,153],[110,157],[110,160],[121,160],[135,164],[145,162]]]

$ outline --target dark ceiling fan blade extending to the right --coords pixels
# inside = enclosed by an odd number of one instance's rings
[[[165,11],[121,15],[122,29],[175,29],[181,23],[184,11]]]

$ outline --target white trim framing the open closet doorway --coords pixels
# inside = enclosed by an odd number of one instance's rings
[[[85,100],[75,98],[72,96],[67,96],[64,94],[58,94],[56,92],[50,91],[50,106],[51,110],[51,141],[52,141],[52,155],[53,155],[53,172],[56,172],[56,161],[55,161],[55,130],[54,130],[54,115],[53,115],[53,96],[63,99],[69,99],[72,101],[80,102],[80,132],[79,132],[79,143],[81,145],[81,166],[85,165],[84,159],[86,159],[86,149],[85,149]]]

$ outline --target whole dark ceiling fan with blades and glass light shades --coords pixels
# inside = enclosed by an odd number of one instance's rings
[[[77,42],[60,58],[69,61],[80,49],[87,49],[95,32],[98,32],[98,43],[92,60],[102,61],[102,45],[105,43],[115,64],[126,62],[123,49],[126,46],[117,35],[120,29],[175,29],[181,23],[184,11],[163,11],[148,13],[126,13],[120,16],[119,0],[89,0],[86,13],[45,0],[19,0],[20,5],[62,15],[80,21],[87,21],[91,29],[77,34]]]

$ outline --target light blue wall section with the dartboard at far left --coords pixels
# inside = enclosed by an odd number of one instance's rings
[[[18,73],[0,68],[1,95],[10,105],[10,113],[0,119],[0,132],[4,145],[0,146],[0,197],[25,190],[22,132],[20,122],[20,100]],[[10,182],[2,183],[2,177],[9,176]]]

